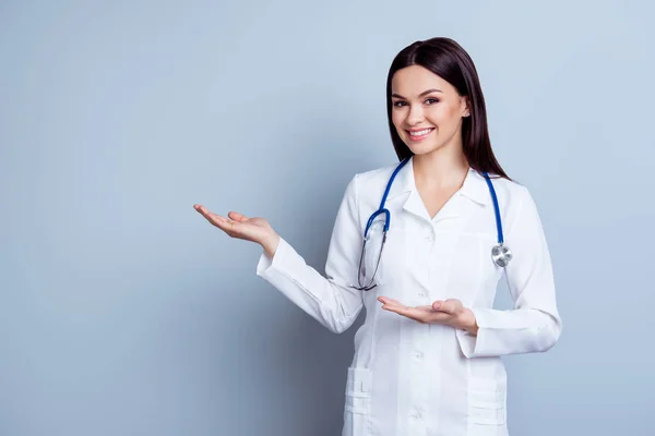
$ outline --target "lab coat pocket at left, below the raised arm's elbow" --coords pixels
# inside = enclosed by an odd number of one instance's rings
[[[370,370],[348,368],[343,436],[362,436],[368,434],[367,426],[371,408],[371,380],[372,373]]]

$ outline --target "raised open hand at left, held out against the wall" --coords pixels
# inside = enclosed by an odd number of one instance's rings
[[[228,213],[227,218],[225,218],[211,213],[202,205],[193,205],[193,208],[230,238],[257,242],[270,257],[273,257],[275,254],[279,243],[279,235],[273,230],[265,218],[248,218],[236,211]]]

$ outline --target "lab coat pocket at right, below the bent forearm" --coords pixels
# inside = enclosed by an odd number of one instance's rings
[[[472,424],[505,425],[507,389],[495,380],[473,378],[468,389],[468,412]]]

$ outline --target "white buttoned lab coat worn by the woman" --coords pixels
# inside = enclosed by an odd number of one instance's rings
[[[337,213],[326,277],[308,266],[283,239],[257,274],[334,332],[346,330],[366,307],[347,370],[344,436],[505,436],[503,354],[541,352],[558,340],[550,256],[528,191],[493,179],[505,244],[514,258],[507,277],[514,308],[492,308],[503,274],[491,259],[497,243],[493,203],[481,174],[471,169],[431,219],[414,181],[413,162],[398,172],[386,208],[391,228],[371,291],[357,283],[366,222],[380,205],[394,166],[355,175]],[[385,295],[407,305],[460,299],[473,310],[477,336],[426,325],[381,310]]]

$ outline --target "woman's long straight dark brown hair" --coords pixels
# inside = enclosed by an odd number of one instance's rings
[[[498,164],[487,128],[487,109],[483,88],[473,60],[468,53],[450,38],[431,38],[405,47],[391,63],[386,77],[386,114],[391,141],[400,160],[413,155],[393,125],[391,112],[391,80],[396,71],[420,65],[455,87],[461,96],[468,97],[471,116],[462,122],[462,146],[468,165],[480,172],[489,172],[505,179],[509,177]]]

